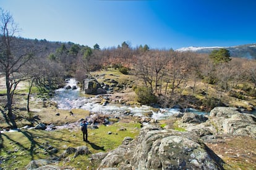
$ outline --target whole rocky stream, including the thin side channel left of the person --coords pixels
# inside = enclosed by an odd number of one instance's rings
[[[67,89],[67,86],[71,88]],[[72,89],[72,87],[77,87]],[[108,97],[110,94],[104,95]],[[66,86],[57,89],[55,91],[54,97],[51,99],[53,102],[56,102],[59,109],[62,110],[71,110],[74,108],[80,108],[83,110],[88,110],[92,113],[101,113],[109,116],[145,116],[145,113],[151,113],[151,118],[153,119],[167,119],[169,116],[180,113],[178,108],[153,108],[147,105],[142,106],[128,106],[123,104],[113,104],[108,103],[106,105],[101,105],[98,103],[98,97],[100,95],[95,95],[95,97],[81,97],[80,96],[80,87],[77,86],[77,81],[74,78],[66,80]],[[207,113],[195,110],[194,108],[187,108],[188,112],[197,113],[200,115],[205,115]],[[52,125],[47,126],[47,131],[51,131]],[[61,126],[55,126],[57,129],[69,128],[69,127],[78,127],[77,123],[64,124]],[[21,127],[20,129],[33,129],[34,127]],[[19,132],[20,129],[10,129],[9,131],[0,131],[4,132]]]

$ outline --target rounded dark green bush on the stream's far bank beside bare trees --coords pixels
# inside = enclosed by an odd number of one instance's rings
[[[151,93],[150,87],[137,87],[135,93],[137,94],[137,102],[142,103],[142,105],[156,102],[156,96]]]

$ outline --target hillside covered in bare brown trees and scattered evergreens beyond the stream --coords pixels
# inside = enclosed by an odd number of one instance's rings
[[[149,49],[147,44],[134,48],[127,42],[100,49],[98,44],[91,48],[72,42],[23,38],[16,38],[11,47],[15,47],[14,52],[28,49],[32,52],[33,59],[22,71],[48,90],[58,87],[63,77],[74,76],[82,82],[92,71],[114,68],[140,79],[143,84],[133,84],[133,89],[143,104],[192,106],[203,110],[227,105],[251,110],[250,101],[256,96],[255,60],[212,57],[219,55],[215,54],[218,50],[208,55]],[[229,97],[248,100],[249,105],[230,102]]]

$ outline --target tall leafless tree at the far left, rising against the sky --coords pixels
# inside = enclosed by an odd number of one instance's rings
[[[0,9],[0,65],[6,76],[8,117],[12,121],[12,99],[14,91],[23,77],[19,71],[32,58],[29,52],[17,53],[15,49],[14,34],[17,32],[17,25],[9,12]]]

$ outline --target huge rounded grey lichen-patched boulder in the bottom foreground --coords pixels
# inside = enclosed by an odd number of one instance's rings
[[[148,125],[101,161],[100,169],[223,169],[223,161],[191,133]]]

